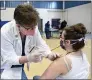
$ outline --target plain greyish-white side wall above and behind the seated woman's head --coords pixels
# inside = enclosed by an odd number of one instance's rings
[[[83,23],[88,32],[92,31],[92,3],[80,5],[77,7],[67,9],[65,13],[67,15],[68,25],[76,23]]]

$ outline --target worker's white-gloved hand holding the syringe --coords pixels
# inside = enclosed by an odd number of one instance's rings
[[[38,47],[35,47],[34,50],[27,55],[27,59],[29,62],[40,62],[43,59],[44,51],[40,50]]]

